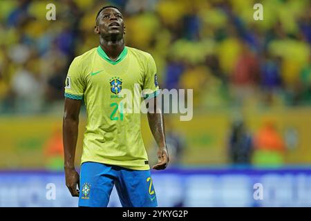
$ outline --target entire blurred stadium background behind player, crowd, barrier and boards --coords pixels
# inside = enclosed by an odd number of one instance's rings
[[[160,87],[194,89],[191,121],[165,116],[172,162],[153,172],[159,205],[311,206],[308,0],[1,0],[0,206],[77,204],[62,173],[64,79],[73,57],[98,45],[95,15],[110,4],[122,8],[126,45],[155,58]],[[152,162],[146,116],[142,128]],[[120,206],[115,192],[110,205]]]

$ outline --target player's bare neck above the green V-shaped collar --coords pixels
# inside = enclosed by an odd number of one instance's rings
[[[115,41],[112,39],[100,39],[100,47],[112,61],[115,61],[124,49],[124,39]]]

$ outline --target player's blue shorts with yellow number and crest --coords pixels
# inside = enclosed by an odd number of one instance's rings
[[[156,207],[150,170],[136,171],[97,162],[84,162],[80,172],[79,206],[106,207],[115,185],[124,207]]]

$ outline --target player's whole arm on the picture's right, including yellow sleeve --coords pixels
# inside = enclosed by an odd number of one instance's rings
[[[169,154],[165,142],[164,117],[160,105],[157,105],[159,86],[156,75],[156,62],[152,56],[147,60],[146,68],[143,95],[147,102],[149,127],[156,143],[158,144],[158,163],[153,166],[153,169],[162,170],[167,167],[167,164],[169,164]]]

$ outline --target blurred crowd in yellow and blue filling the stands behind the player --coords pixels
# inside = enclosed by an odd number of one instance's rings
[[[73,57],[98,45],[102,6],[119,6],[126,45],[156,59],[162,88],[193,88],[194,106],[311,104],[311,4],[255,1],[0,1],[0,113],[47,111],[63,99]]]

